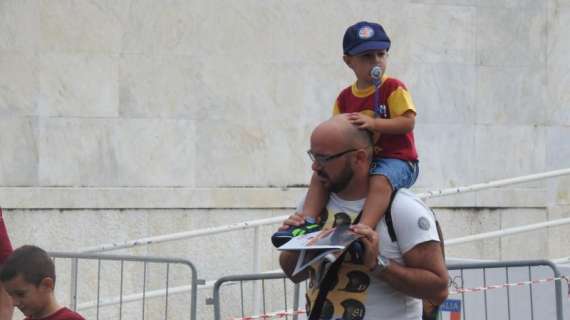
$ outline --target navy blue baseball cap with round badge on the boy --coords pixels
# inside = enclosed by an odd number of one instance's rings
[[[361,21],[346,29],[342,39],[344,54],[354,56],[370,50],[390,49],[390,38],[381,25]]]

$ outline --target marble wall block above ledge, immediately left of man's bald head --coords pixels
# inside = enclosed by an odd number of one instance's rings
[[[197,126],[195,169],[201,186],[308,183],[307,136],[295,126],[278,120],[202,121]]]

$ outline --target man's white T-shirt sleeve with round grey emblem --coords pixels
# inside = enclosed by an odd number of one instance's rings
[[[402,254],[420,243],[439,242],[433,213],[411,191],[398,191],[392,203],[392,223]]]

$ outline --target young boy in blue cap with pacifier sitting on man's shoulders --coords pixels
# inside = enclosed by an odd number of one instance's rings
[[[333,115],[346,114],[351,123],[373,135],[374,159],[370,169],[369,191],[360,222],[376,228],[388,208],[394,190],[411,187],[418,177],[418,155],[413,129],[416,108],[406,86],[385,74],[391,41],[377,23],[361,21],[346,30],[343,60],[354,72],[356,82],[338,95]],[[324,168],[334,161],[350,161],[353,151],[314,154],[313,166]],[[323,171],[323,170],[321,170]],[[317,231],[318,217],[330,190],[313,174],[302,214],[305,224],[277,232],[277,247],[291,237]]]

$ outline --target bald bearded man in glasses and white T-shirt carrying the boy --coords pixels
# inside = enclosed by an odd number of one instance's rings
[[[320,223],[328,228],[340,214],[354,221],[369,186],[372,142],[368,132],[352,125],[344,115],[333,117],[315,128],[308,154],[315,175],[331,190]],[[293,277],[298,254],[281,253],[281,267],[291,280],[310,279],[306,296],[309,319],[420,320],[421,299],[433,304],[446,299],[447,268],[433,213],[412,192],[400,189],[392,203],[391,218],[397,235],[394,241],[385,218],[376,230],[364,224],[352,226],[353,231],[363,235],[363,253],[361,257],[351,252],[344,256],[331,282],[333,287],[324,298],[318,298],[322,285],[317,286],[316,281],[322,264]],[[280,230],[304,222],[302,215],[294,214]],[[315,301],[322,303],[313,309]]]

